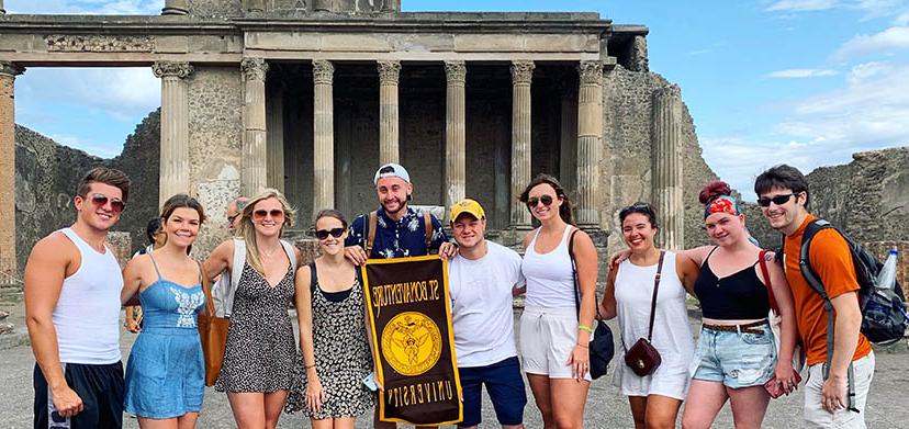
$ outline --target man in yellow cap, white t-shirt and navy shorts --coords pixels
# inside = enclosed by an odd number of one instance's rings
[[[500,425],[523,428],[527,394],[512,309],[512,297],[524,292],[520,256],[485,239],[486,215],[476,201],[456,203],[450,219],[459,249],[448,263],[451,324],[464,400],[464,420],[458,426],[480,426],[485,384]]]

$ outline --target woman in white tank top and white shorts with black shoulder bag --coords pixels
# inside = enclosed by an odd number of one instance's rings
[[[524,371],[545,427],[582,427],[591,386],[587,343],[596,313],[596,248],[571,225],[571,203],[556,178],[537,176],[520,201],[541,225],[524,239],[520,266],[527,280],[520,317]],[[580,314],[568,249],[572,235]]]

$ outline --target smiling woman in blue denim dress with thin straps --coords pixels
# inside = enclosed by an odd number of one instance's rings
[[[167,242],[123,271],[122,301],[138,294],[145,314],[126,364],[124,398],[124,409],[138,417],[141,427],[194,427],[202,409],[205,370],[197,315],[205,297],[201,267],[187,250],[204,219],[195,199],[171,196],[161,210]]]

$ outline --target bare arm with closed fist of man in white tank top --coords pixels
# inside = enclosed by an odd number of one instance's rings
[[[25,264],[25,324],[35,361],[47,381],[54,406],[63,417],[82,410],[82,398],[64,377],[53,314],[70,263],[81,263],[76,247],[63,234],[38,241]],[[74,270],[75,271],[75,270]]]

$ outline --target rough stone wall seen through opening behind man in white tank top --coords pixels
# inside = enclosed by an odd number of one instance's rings
[[[133,181],[126,211],[114,227],[132,235],[134,250],[144,246],[145,225],[158,211],[160,115],[152,112],[126,138],[123,153],[102,159],[57,145],[24,126],[15,127],[15,223],[19,269],[34,244],[72,224],[72,197],[82,174],[98,166],[121,169]]]

